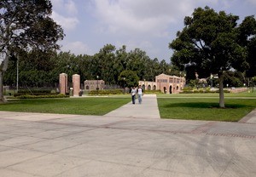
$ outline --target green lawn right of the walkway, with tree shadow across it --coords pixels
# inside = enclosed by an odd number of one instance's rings
[[[226,97],[224,102],[225,108],[218,108],[218,97],[158,98],[161,118],[236,122],[256,108],[256,98]]]

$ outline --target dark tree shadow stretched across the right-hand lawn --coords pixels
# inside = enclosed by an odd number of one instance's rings
[[[224,108],[220,108],[218,103],[207,103],[207,102],[186,102],[186,103],[170,103],[163,107],[189,107],[189,108],[212,108],[212,109],[237,109],[242,107],[247,107],[240,104],[225,104]]]

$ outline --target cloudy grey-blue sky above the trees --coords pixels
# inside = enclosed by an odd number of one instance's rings
[[[209,6],[243,20],[256,14],[256,0],[52,0],[52,18],[63,27],[62,51],[96,54],[107,43],[146,51],[170,62],[168,49],[195,8]]]

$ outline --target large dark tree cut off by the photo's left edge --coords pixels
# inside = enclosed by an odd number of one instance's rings
[[[21,51],[59,49],[56,42],[63,39],[61,26],[49,15],[49,0],[2,0],[0,2],[0,102],[3,98],[3,73],[10,54],[19,58]]]

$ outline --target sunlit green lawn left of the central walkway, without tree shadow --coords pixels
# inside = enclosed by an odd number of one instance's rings
[[[0,104],[0,111],[104,115],[129,101],[130,97],[9,100],[7,104]]]

